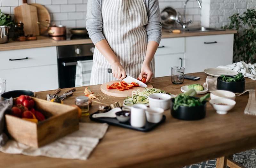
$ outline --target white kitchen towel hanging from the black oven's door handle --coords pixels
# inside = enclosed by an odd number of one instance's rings
[[[77,61],[75,87],[90,85],[92,60]]]

